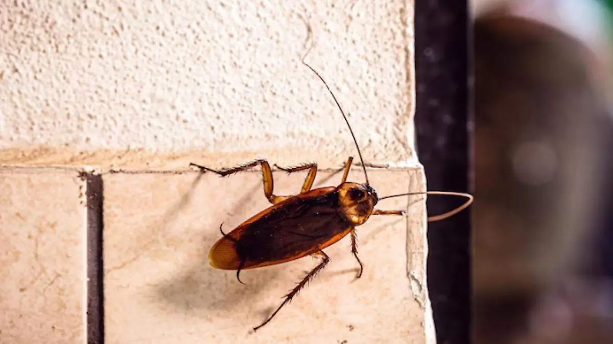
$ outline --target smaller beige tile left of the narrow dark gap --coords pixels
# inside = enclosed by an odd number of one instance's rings
[[[83,343],[76,173],[0,171],[0,343]]]

